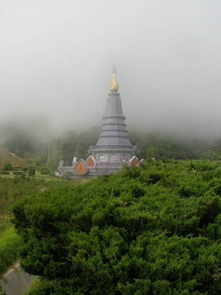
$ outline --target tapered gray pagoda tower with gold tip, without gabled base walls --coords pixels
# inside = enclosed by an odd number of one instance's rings
[[[132,146],[126,130],[123,115],[119,85],[116,80],[116,68],[113,66],[112,79],[106,112],[103,117],[101,134],[96,146],[90,146],[89,154],[98,162],[128,162],[132,155],[138,152],[137,146]]]

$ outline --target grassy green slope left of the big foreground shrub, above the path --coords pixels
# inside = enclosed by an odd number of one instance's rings
[[[18,249],[22,243],[21,237],[17,235],[11,223],[11,206],[24,197],[28,198],[40,191],[65,183],[68,183],[68,180],[46,181],[44,178],[0,177],[0,275],[18,259]]]

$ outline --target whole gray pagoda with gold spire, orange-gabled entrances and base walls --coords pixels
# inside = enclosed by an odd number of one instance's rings
[[[122,169],[123,165],[131,167],[139,165],[139,160],[135,155],[138,153],[138,147],[132,146],[126,130],[124,122],[126,117],[123,115],[115,73],[116,69],[113,67],[111,92],[96,146],[89,147],[90,156],[86,161],[83,159],[77,161],[74,158],[70,167],[63,166],[63,161],[60,161],[55,175],[62,176],[71,172],[73,178],[99,176],[115,173]]]

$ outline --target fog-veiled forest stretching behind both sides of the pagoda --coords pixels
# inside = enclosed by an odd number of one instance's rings
[[[36,165],[47,164],[55,171],[59,160],[70,165],[73,156],[87,158],[87,149],[95,145],[100,127],[92,126],[78,131],[63,130],[53,134],[47,126],[32,124],[22,126],[8,123],[0,126],[1,147],[8,149],[18,157],[32,159]],[[42,133],[41,133],[42,131]],[[154,157],[164,159],[221,159],[221,138],[197,138],[172,132],[148,131],[131,129],[130,139],[133,145],[138,145],[139,159]]]

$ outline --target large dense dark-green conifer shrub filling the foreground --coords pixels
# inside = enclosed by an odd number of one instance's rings
[[[31,295],[221,292],[221,163],[153,161],[13,207]]]

